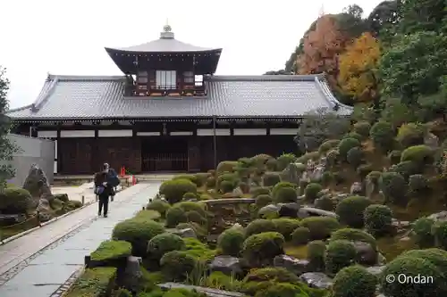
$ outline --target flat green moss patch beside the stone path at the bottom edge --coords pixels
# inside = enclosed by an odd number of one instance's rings
[[[65,297],[99,297],[110,295],[116,268],[86,269]]]

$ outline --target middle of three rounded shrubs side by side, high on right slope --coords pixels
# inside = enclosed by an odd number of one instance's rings
[[[379,187],[384,194],[386,202],[402,206],[407,205],[408,201],[405,196],[407,183],[399,173],[384,172],[379,179]]]

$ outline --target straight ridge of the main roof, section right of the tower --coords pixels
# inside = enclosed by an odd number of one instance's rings
[[[321,74],[294,75],[215,75],[206,76],[208,81],[315,81]]]

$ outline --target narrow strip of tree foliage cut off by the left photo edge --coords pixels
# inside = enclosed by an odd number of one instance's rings
[[[9,107],[6,98],[8,90],[9,80],[6,78],[6,70],[0,66],[0,190],[4,189],[6,181],[15,174],[11,161],[13,161],[13,154],[18,152],[18,147],[8,137],[11,121],[4,114]]]

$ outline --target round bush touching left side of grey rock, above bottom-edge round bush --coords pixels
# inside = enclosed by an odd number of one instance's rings
[[[357,252],[347,240],[333,240],[326,248],[325,268],[329,276],[334,276],[342,268],[349,267],[356,259]]]

